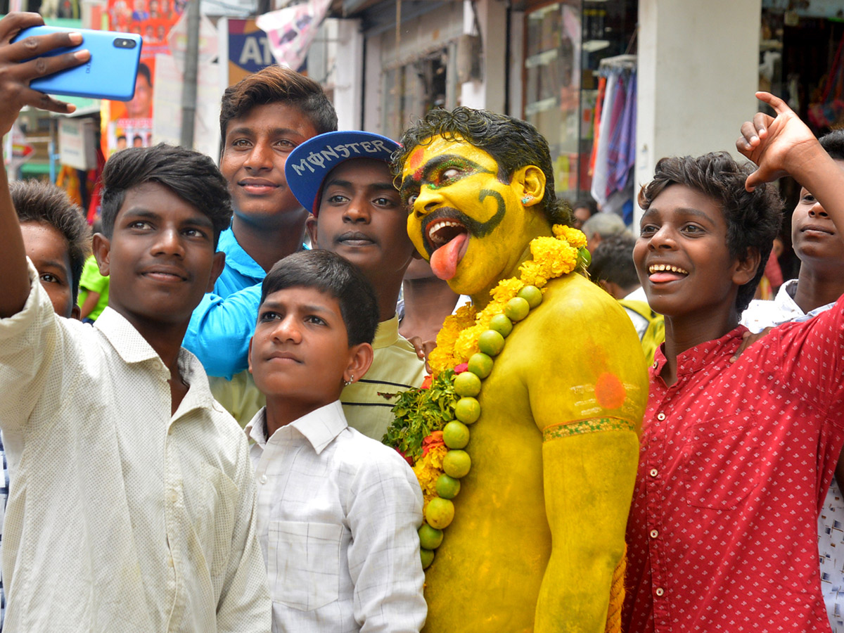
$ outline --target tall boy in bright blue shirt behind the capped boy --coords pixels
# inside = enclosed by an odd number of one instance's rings
[[[194,311],[184,345],[208,376],[230,379],[246,370],[264,275],[279,259],[299,251],[305,238],[309,210],[290,192],[284,164],[300,143],[336,130],[337,114],[320,84],[273,65],[225,90],[219,127],[219,170],[229,184],[234,217],[219,236],[225,268]],[[218,390],[227,388],[212,381],[218,399]]]

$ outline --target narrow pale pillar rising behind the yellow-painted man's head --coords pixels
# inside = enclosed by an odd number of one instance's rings
[[[507,36],[506,3],[500,0],[478,0],[474,3],[482,45],[484,46],[483,78],[468,81],[460,90],[460,105],[504,113]],[[463,32],[474,33],[472,1],[463,2]]]

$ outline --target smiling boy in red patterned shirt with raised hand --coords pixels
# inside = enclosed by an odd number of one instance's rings
[[[739,151],[657,163],[634,260],[665,344],[628,522],[629,631],[829,630],[817,518],[844,442],[844,299],[730,360],[780,224],[786,173],[844,229],[844,173],[785,103]]]

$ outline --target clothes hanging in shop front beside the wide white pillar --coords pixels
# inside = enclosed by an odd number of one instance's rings
[[[633,220],[633,179],[636,162],[636,57],[619,55],[601,62],[607,79],[600,120],[596,116],[592,197],[602,211]]]

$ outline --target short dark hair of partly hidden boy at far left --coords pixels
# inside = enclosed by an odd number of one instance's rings
[[[68,241],[68,259],[73,278],[70,279],[70,287],[75,304],[82,268],[91,251],[91,231],[85,221],[84,211],[71,201],[68,192],[46,182],[14,181],[9,183],[8,189],[21,224],[37,222],[50,225]]]

